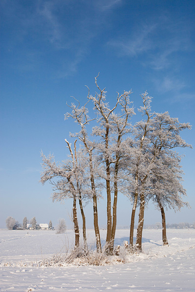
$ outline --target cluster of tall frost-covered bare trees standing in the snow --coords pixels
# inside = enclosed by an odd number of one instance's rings
[[[181,184],[181,156],[174,149],[192,147],[180,137],[180,132],[191,126],[170,117],[168,112],[152,112],[152,98],[147,92],[141,94],[142,105],[138,109],[142,120],[132,125],[130,120],[135,114],[133,102],[130,101],[132,91],[117,93],[116,102],[110,107],[106,101],[106,91],[99,88],[97,77],[95,82],[98,92],[93,96],[88,89],[84,106],[80,106],[76,99],[76,104],[68,105],[70,112],[65,114],[65,120],[71,118],[79,128],[78,132],[70,134],[75,137],[74,148],[65,139],[69,158],[57,165],[53,155],[41,153],[41,183],[49,181],[53,184],[53,201],[73,199],[75,246],[79,245],[77,201],[82,216],[85,250],[87,239],[83,201],[93,201],[97,251],[101,252],[97,202],[103,189],[107,198],[108,255],[113,253],[114,247],[118,193],[126,195],[133,203],[130,248],[133,250],[134,247],[135,213],[139,207],[136,247],[141,250],[144,208],[150,200],[161,212],[163,244],[168,244],[164,210],[167,207],[179,210],[182,206],[188,206],[182,200],[186,191]],[[88,115],[88,103],[94,105],[92,118]]]

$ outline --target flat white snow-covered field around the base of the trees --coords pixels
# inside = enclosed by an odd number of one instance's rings
[[[87,236],[93,243],[94,231]],[[105,237],[102,230],[102,243]],[[169,246],[162,246],[160,229],[144,229],[143,253],[125,264],[38,267],[32,262],[73,247],[73,231],[0,230],[0,292],[194,292],[195,229],[168,229],[167,237]],[[129,230],[117,230],[116,245],[128,239]]]

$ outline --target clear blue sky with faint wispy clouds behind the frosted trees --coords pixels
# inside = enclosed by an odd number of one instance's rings
[[[39,183],[40,150],[64,160],[64,139],[77,131],[66,102],[86,101],[87,90],[106,87],[112,104],[116,91],[132,89],[135,107],[145,90],[152,110],[169,111],[180,122],[195,125],[195,7],[180,0],[1,0],[0,1],[0,227],[12,216],[22,222],[58,223],[71,201],[52,203],[51,185]],[[139,116],[137,116],[139,118]],[[195,145],[195,129],[182,133]],[[69,139],[71,141],[71,139]],[[185,154],[184,187],[192,209],[168,211],[167,222],[195,221],[195,153]],[[105,226],[106,201],[98,204]],[[118,226],[129,225],[131,204],[120,198]],[[92,226],[92,205],[86,207]],[[152,211],[152,212],[151,212]],[[145,223],[160,221],[152,206]]]

